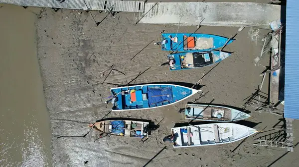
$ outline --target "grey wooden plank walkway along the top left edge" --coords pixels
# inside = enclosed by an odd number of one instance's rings
[[[140,13],[143,13],[145,8],[144,1],[133,0],[65,0],[62,3],[60,3],[58,0],[0,0],[0,3],[15,4],[19,6],[78,10],[106,10],[107,7],[114,5],[113,11]]]

